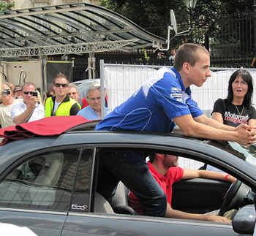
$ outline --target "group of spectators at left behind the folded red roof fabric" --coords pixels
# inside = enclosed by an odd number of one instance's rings
[[[26,82],[14,86],[3,81],[0,104],[1,128],[60,115],[82,115],[89,120],[101,119],[99,83],[94,83],[89,88],[86,99],[83,99],[82,109],[82,104],[78,104],[78,97],[77,86],[70,84],[67,76],[62,73],[53,79],[53,88],[45,93],[43,100],[34,83]],[[105,114],[107,112],[108,109],[105,107]]]

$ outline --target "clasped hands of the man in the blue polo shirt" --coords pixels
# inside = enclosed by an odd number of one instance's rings
[[[249,147],[255,142],[256,127],[248,126],[246,123],[241,123],[236,127],[235,132],[238,132],[238,142],[241,145]]]

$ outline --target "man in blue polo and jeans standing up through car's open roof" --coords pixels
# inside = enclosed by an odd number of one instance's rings
[[[235,129],[215,122],[203,115],[192,99],[189,86],[202,86],[211,76],[209,66],[208,50],[191,43],[181,45],[173,68],[159,69],[126,102],[107,115],[96,130],[172,132],[177,124],[187,136],[251,145],[255,142],[252,127],[243,124]],[[143,153],[104,153],[99,167],[97,191],[110,203],[121,180],[143,202],[143,215],[165,216],[166,196],[150,172],[145,171]]]

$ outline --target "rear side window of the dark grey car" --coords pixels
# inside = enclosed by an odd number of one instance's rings
[[[0,206],[69,210],[79,153],[49,151],[18,164],[0,183]]]

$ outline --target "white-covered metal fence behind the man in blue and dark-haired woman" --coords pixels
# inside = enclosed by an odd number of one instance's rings
[[[108,91],[108,111],[112,111],[132,96],[160,67],[158,65],[104,64],[101,75],[104,77]],[[228,80],[239,68],[211,67],[210,69],[211,77],[208,77],[203,86],[200,88],[191,86],[193,99],[208,117],[211,117],[214,102],[219,98],[227,97]],[[247,70],[256,79],[256,69]],[[252,102],[256,104],[256,96],[253,97]]]

